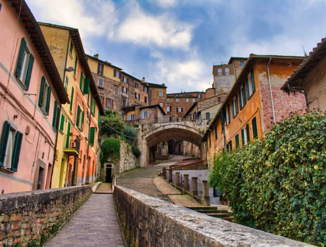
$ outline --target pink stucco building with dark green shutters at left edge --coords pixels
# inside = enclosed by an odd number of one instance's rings
[[[68,95],[25,1],[1,3],[0,191],[45,189]]]

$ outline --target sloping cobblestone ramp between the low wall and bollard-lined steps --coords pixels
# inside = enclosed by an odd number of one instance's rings
[[[169,167],[167,164],[166,167]],[[164,166],[153,166],[117,179],[117,185],[133,189],[143,194],[151,195],[158,199],[173,203],[169,195],[163,194],[154,184],[153,179]]]

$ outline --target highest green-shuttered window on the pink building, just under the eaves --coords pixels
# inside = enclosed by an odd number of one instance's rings
[[[22,38],[17,59],[16,76],[24,84],[26,90],[30,88],[34,56],[27,47],[26,39]]]

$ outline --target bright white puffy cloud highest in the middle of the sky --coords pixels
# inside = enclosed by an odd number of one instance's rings
[[[119,40],[142,46],[154,44],[164,48],[188,50],[194,28],[191,24],[178,21],[168,14],[146,14],[138,4],[132,9],[117,29]]]

